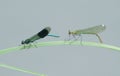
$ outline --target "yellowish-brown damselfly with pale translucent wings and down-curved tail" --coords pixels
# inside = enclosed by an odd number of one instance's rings
[[[89,27],[89,28],[86,28],[86,29],[80,29],[80,30],[75,30],[75,31],[70,31],[69,30],[68,34],[69,34],[69,38],[70,38],[70,35],[72,35],[75,38],[75,40],[78,40],[78,38],[76,38],[76,36],[80,37],[81,34],[96,35],[98,37],[100,43],[103,43],[103,41],[100,38],[100,36],[98,35],[98,33],[104,31],[105,29],[106,29],[105,25],[98,25],[98,26],[93,26],[93,27]]]

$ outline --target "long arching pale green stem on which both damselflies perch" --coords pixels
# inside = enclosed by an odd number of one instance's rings
[[[108,45],[104,43],[103,44],[96,43],[96,42],[82,42],[81,43],[80,41],[74,41],[74,42],[72,41],[49,41],[49,42],[39,42],[36,44],[31,44],[31,45],[21,45],[21,46],[3,49],[3,50],[0,50],[0,55],[13,52],[13,51],[28,49],[28,48],[36,48],[35,45],[37,47],[58,46],[58,45],[94,46],[94,47],[107,48],[107,49],[112,49],[115,51],[120,51],[120,47]]]

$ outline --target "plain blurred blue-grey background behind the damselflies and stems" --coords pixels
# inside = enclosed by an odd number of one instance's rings
[[[68,30],[105,24],[100,34],[105,44],[120,46],[119,0],[0,0],[0,49],[20,45],[22,40],[46,26],[51,34],[37,42],[68,38]],[[94,35],[83,41],[99,42]],[[48,76],[120,76],[120,52],[89,46],[52,46],[0,55],[0,63]],[[0,67],[0,76],[34,76]]]

